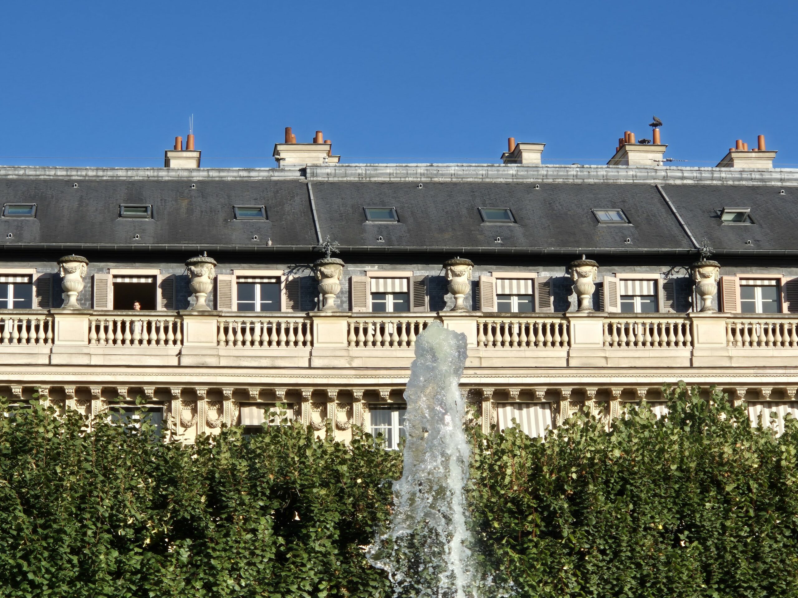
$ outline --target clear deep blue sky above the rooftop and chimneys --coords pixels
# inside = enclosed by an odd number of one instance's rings
[[[606,163],[665,123],[714,166],[764,133],[798,167],[796,2],[9,2],[3,164],[272,167],[292,126],[347,162]],[[128,159],[128,158],[148,159]],[[91,158],[91,159],[81,159]],[[235,158],[235,159],[221,159]]]

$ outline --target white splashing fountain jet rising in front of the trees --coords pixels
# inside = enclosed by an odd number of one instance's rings
[[[464,334],[433,322],[416,340],[405,391],[405,469],[393,482],[393,517],[367,557],[389,573],[394,596],[474,598],[464,486],[469,447],[458,384]]]

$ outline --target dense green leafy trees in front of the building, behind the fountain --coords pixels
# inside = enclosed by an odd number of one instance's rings
[[[476,553],[513,596],[798,596],[798,425],[776,439],[683,386],[670,414],[578,414],[473,441]],[[152,429],[0,418],[0,596],[391,596],[365,545],[401,454],[298,424],[196,445]]]

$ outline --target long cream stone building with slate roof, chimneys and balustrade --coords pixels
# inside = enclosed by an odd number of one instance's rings
[[[284,403],[395,446],[415,338],[439,321],[467,337],[461,391],[486,430],[663,412],[678,380],[783,426],[798,170],[764,142],[713,168],[663,165],[665,147],[620,144],[607,166],[543,166],[543,144],[341,164],[289,142],[264,169],[177,148],[164,168],[0,167],[0,394],[116,419],[141,397],[185,442]]]

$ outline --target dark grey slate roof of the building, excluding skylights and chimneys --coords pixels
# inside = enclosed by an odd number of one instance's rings
[[[793,170],[0,167],[0,203],[37,204],[36,218],[0,218],[5,249],[304,251],[329,235],[374,253],[688,254],[706,240],[721,254],[798,254]],[[152,206],[152,219],[120,218],[120,204]],[[267,220],[234,217],[261,205]],[[396,208],[399,222],[366,222],[364,207]],[[480,207],[516,223],[482,222]],[[750,208],[754,223],[721,224],[724,207]],[[630,224],[600,224],[601,209]]]

